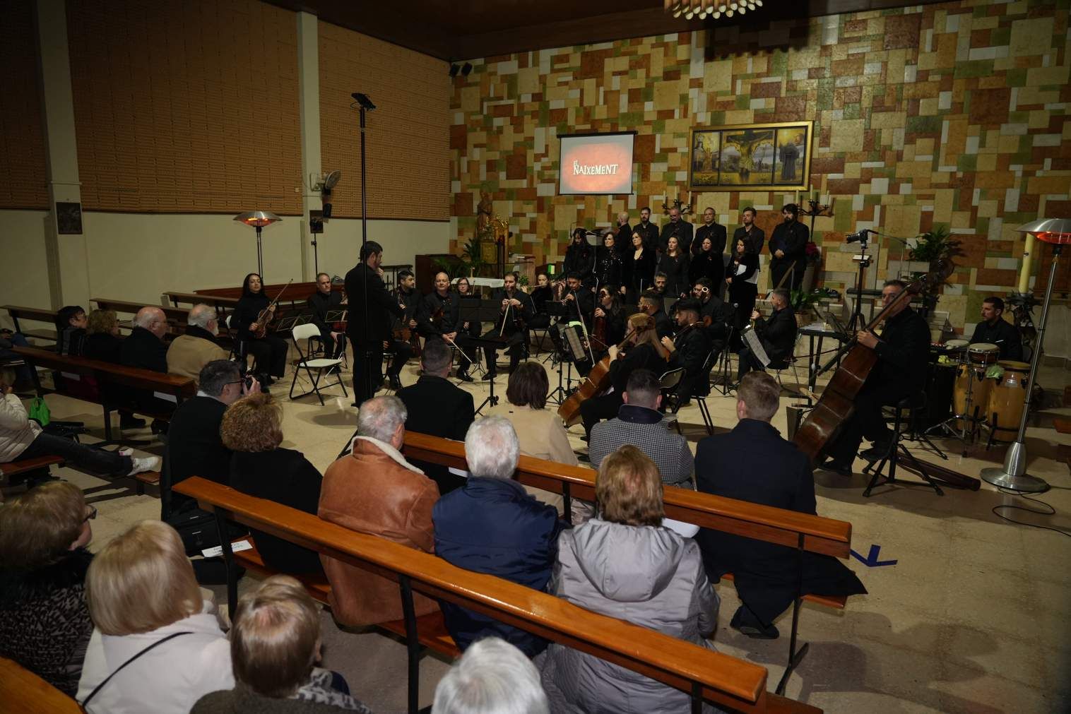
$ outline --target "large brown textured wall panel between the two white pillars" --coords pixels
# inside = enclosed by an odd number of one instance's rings
[[[293,13],[71,0],[67,20],[87,210],[301,213]]]

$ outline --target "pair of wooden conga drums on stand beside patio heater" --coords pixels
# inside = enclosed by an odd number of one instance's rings
[[[986,343],[968,344],[950,339],[944,345],[945,358],[955,369],[952,391],[952,415],[926,430],[957,439],[963,455],[977,443],[982,430],[989,432],[985,447],[994,442],[1015,440],[1026,402],[1030,365],[1026,362],[997,360],[1000,349]]]

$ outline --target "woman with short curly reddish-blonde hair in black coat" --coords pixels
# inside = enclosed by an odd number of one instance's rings
[[[283,408],[268,394],[251,394],[227,408],[220,424],[230,456],[230,486],[248,496],[316,514],[322,476],[304,454],[283,449]],[[200,474],[198,474],[200,475]],[[252,530],[265,565],[293,574],[322,574],[315,550]]]

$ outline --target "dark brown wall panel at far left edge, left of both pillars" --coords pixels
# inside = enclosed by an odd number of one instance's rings
[[[33,3],[6,3],[0,21],[0,209],[48,207]]]

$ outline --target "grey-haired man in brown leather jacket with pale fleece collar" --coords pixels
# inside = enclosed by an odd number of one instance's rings
[[[405,425],[405,405],[397,397],[374,397],[361,405],[350,453],[323,474],[319,516],[432,552],[432,507],[439,491],[402,455]],[[396,582],[333,558],[322,560],[331,582],[331,610],[338,622],[360,626],[402,619]],[[420,594],[413,595],[413,605],[418,616],[438,609],[435,601]]]

